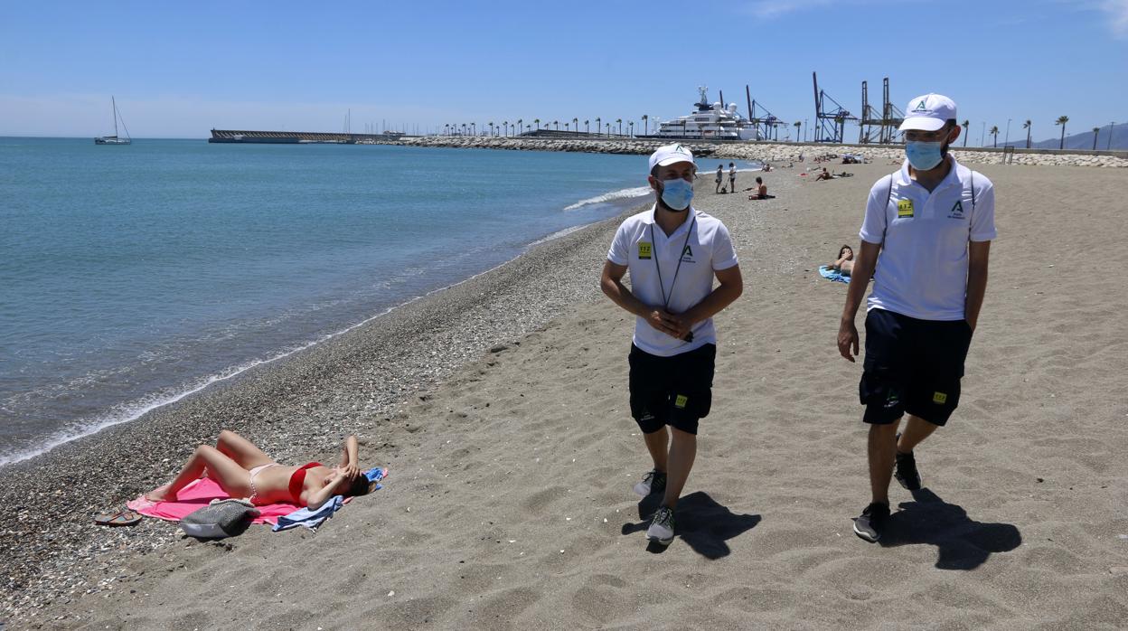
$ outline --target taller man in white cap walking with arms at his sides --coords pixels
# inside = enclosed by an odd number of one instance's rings
[[[854,520],[854,533],[870,542],[881,538],[889,519],[890,479],[909,491],[920,489],[914,448],[943,427],[960,402],[996,237],[994,186],[948,152],[961,131],[955,104],[927,94],[906,112],[900,130],[907,159],[870,190],[838,327],[838,352],[854,361],[854,317],[873,278],[858,385],[870,424],[873,497]]]

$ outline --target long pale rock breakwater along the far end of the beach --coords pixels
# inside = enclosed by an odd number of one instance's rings
[[[399,140],[381,141],[380,144],[402,147],[450,147],[460,149],[506,149],[514,151],[576,151],[589,154],[638,154],[649,155],[656,147],[669,141],[656,139],[561,139],[561,138],[504,138],[504,137],[412,137]],[[710,143],[688,140],[682,144],[689,147],[695,156],[784,163],[796,160],[800,154],[808,158],[834,154],[860,154],[867,161],[897,160],[905,158],[902,147],[888,146],[853,146],[853,144],[779,144],[770,142],[725,142]],[[1001,164],[1003,151],[960,150],[953,147],[955,159],[966,164]],[[1122,154],[1122,152],[1121,152]],[[1128,168],[1128,158],[1120,156],[1085,155],[1085,154],[1043,154],[1015,151],[1013,164],[1036,166],[1090,166]]]

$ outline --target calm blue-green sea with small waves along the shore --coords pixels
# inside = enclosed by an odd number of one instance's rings
[[[617,216],[645,176],[645,156],[0,138],[0,465]]]

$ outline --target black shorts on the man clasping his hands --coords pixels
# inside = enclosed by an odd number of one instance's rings
[[[716,344],[658,357],[631,344],[631,415],[643,433],[664,426],[697,433],[713,403]]]

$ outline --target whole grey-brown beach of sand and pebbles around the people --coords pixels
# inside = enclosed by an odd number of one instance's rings
[[[598,289],[610,220],[0,470],[0,628],[1128,625],[1128,170],[975,166],[999,237],[962,401],[917,450],[926,489],[893,485],[879,545],[851,531],[869,501],[861,363],[835,345],[846,286],[818,266],[856,246],[897,167],[800,167],[764,174],[774,200],[698,185],[746,289],[716,318],[713,411],[668,549],[647,547],[654,506],[631,491],[650,461],[627,407],[633,316]],[[316,533],[90,523],[223,428],[288,463],[355,432],[390,476]]]

